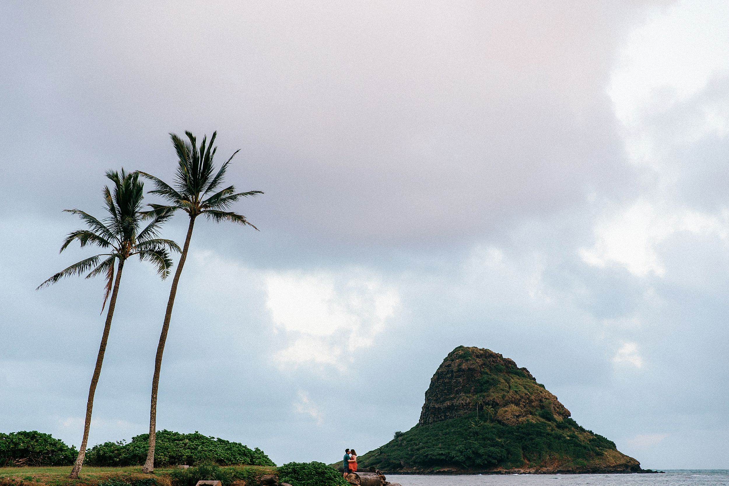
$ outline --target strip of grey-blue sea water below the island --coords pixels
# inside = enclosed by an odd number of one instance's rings
[[[387,480],[402,486],[729,486],[729,469],[676,469],[666,470],[666,474],[387,474]]]

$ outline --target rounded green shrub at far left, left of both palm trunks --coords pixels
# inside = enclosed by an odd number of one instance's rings
[[[69,466],[78,455],[60,439],[38,431],[0,434],[0,466]]]

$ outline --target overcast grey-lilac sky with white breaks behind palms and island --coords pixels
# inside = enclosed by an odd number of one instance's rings
[[[472,345],[644,467],[729,468],[725,1],[3,10],[0,431],[81,442],[103,282],[35,291],[89,254],[61,210],[218,130],[260,232],[196,225],[158,428],[332,462]],[[169,285],[125,267],[90,444],[147,431]]]

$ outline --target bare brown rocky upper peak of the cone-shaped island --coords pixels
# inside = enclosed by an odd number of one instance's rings
[[[558,418],[570,416],[569,410],[537,383],[528,369],[517,367],[513,360],[492,350],[459,346],[445,357],[431,378],[418,424],[462,417],[475,412],[476,407],[504,409],[502,418],[509,415],[509,419],[526,420],[541,409]]]

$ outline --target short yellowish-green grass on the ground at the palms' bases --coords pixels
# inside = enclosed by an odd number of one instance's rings
[[[239,472],[248,471],[254,477],[275,474],[276,468],[266,466],[230,466]],[[84,466],[79,479],[69,479],[71,466],[0,468],[0,486],[98,486],[109,478],[124,482],[154,477],[159,486],[171,486],[172,469],[157,468],[155,474],[144,474],[141,466],[93,467]]]

